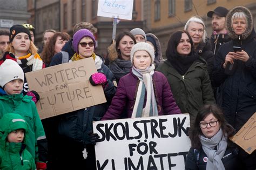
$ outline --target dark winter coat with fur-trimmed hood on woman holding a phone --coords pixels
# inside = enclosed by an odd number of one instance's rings
[[[235,35],[231,17],[234,12],[242,11],[247,15],[247,27],[240,36]],[[212,78],[221,84],[222,104],[224,115],[235,130],[240,128],[256,112],[256,40],[251,12],[242,6],[231,10],[227,15],[227,28],[231,42],[222,45],[215,57]],[[223,64],[228,52],[233,51],[233,44],[240,44],[241,49],[250,57],[247,62],[236,60],[237,69],[232,76],[225,74]]]

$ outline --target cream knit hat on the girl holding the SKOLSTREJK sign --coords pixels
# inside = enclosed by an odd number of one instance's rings
[[[140,51],[140,50],[145,50],[147,53],[149,53],[150,57],[151,57],[151,64],[154,62],[154,49],[153,46],[150,45],[149,43],[137,43],[135,45],[133,45],[132,49],[131,49],[131,62],[133,64],[133,57],[134,57],[134,53],[136,51]]]

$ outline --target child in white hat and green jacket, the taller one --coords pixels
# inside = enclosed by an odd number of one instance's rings
[[[6,59],[0,65],[0,119],[5,114],[17,113],[28,123],[26,148],[36,161],[37,169],[46,168],[47,140],[35,103],[23,96],[24,72],[17,62]]]

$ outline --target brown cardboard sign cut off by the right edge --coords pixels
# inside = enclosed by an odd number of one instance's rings
[[[256,112],[231,140],[248,154],[251,154],[256,149]]]

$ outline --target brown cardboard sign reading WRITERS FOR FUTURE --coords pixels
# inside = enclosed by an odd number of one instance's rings
[[[30,91],[35,90],[40,96],[36,104],[40,118],[105,103],[102,86],[92,86],[89,82],[91,74],[96,72],[90,57],[25,73]]]

